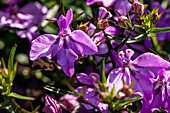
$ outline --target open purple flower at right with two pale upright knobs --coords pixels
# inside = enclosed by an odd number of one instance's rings
[[[115,51],[110,52],[118,68],[113,69],[107,78],[109,91],[115,84],[115,93],[123,87],[123,80],[127,85],[135,79],[133,90],[143,94],[143,98],[148,102],[152,101],[152,81],[150,78],[157,77],[157,72],[161,69],[170,69],[170,63],[152,53],[144,53],[135,60],[131,60],[134,51],[126,49],[126,57],[123,51],[115,55]]]

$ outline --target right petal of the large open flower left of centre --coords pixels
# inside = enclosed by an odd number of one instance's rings
[[[78,54],[93,55],[97,52],[95,43],[81,30],[75,30],[69,38],[69,45]]]

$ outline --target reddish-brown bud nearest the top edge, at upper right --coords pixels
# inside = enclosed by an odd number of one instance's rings
[[[144,5],[140,2],[134,2],[131,7],[131,12],[141,13],[144,10]]]

